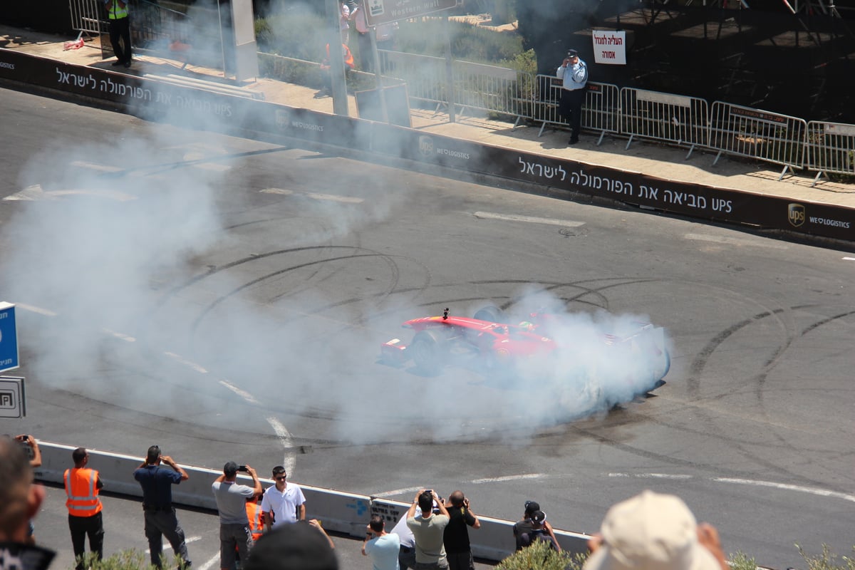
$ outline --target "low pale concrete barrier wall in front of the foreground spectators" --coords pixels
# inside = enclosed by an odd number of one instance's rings
[[[39,441],[42,452],[42,466],[35,470],[36,479],[43,482],[62,485],[62,473],[74,467],[70,445],[52,444]],[[97,469],[104,484],[104,491],[142,497],[139,483],[133,479],[133,471],[143,462],[143,457],[121,455],[108,451],[87,449],[90,455],[89,467]],[[216,510],[211,483],[221,475],[221,471],[204,467],[182,465],[190,479],[173,487],[173,502],[197,508]],[[243,474],[238,476],[241,482],[250,483],[251,479]],[[274,485],[272,479],[261,479],[265,488]],[[321,487],[312,487],[299,483],[306,497],[306,517],[323,520],[328,531],[341,532],[353,538],[365,536],[365,526],[371,514],[380,514],[386,520],[386,528],[392,528],[407,513],[409,503],[358,495],[345,491],[334,491]],[[513,521],[493,519],[479,514],[481,529],[469,533],[472,554],[491,561],[501,561],[516,548],[512,527]],[[556,531],[561,547],[570,552],[587,552],[589,536],[580,532]]]

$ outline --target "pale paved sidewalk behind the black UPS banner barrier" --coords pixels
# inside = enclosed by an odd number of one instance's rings
[[[331,97],[316,97],[316,90],[303,85],[292,85],[274,79],[259,78],[243,85],[233,79],[223,78],[219,70],[186,65],[184,62],[151,55],[135,54],[132,68],[113,68],[115,60],[102,59],[99,38],[86,41],[78,50],[63,50],[63,44],[74,38],[56,36],[0,25],[0,47],[21,50],[27,54],[48,57],[60,62],[86,65],[95,68],[127,73],[139,77],[156,77],[187,85],[188,82],[212,91],[243,94],[245,97],[262,97],[269,103],[282,103],[290,107],[310,109],[333,114]],[[349,113],[356,117],[355,97],[348,96]],[[813,185],[816,173],[800,171],[787,173],[778,180],[781,167],[730,156],[722,156],[712,166],[715,153],[695,150],[687,158],[687,149],[634,141],[627,149],[627,140],[606,136],[597,146],[598,135],[585,133],[580,144],[569,147],[569,133],[564,130],[545,130],[539,137],[540,126],[517,126],[500,120],[470,115],[457,116],[454,123],[443,111],[411,109],[412,127],[416,130],[450,138],[490,144],[506,149],[523,150],[542,156],[569,158],[589,165],[616,168],[632,173],[645,173],[661,179],[687,184],[743,191],[769,197],[781,197],[795,202],[811,202],[855,209],[855,184],[844,184],[821,179]]]

